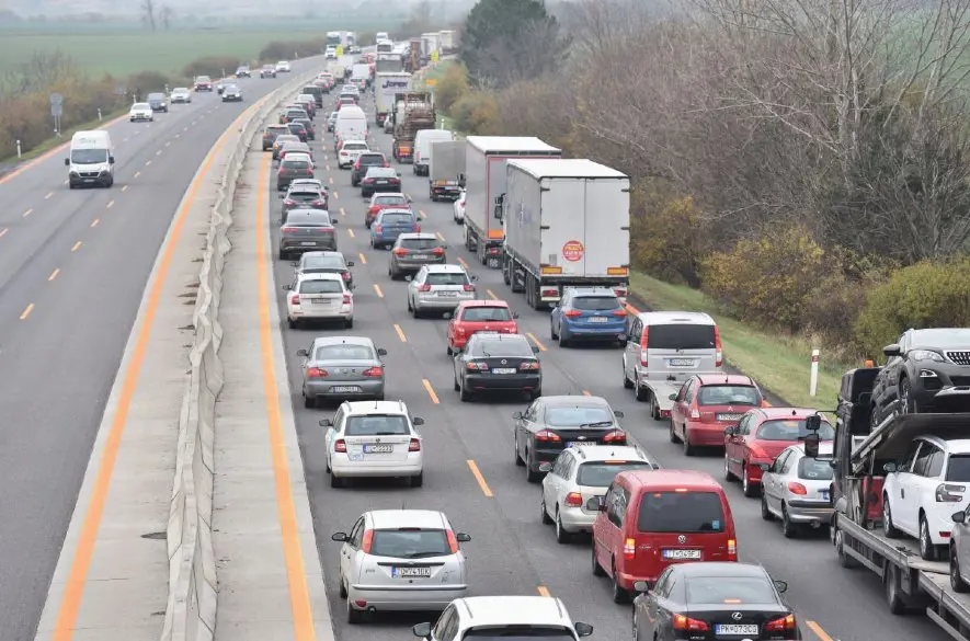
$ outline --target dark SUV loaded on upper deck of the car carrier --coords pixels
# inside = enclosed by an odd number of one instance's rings
[[[970,329],[908,330],[882,350],[872,386],[875,427],[893,412],[970,411]]]

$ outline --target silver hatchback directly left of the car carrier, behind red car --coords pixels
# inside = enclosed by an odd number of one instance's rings
[[[819,453],[831,456],[832,444],[821,443]],[[813,528],[829,525],[832,479],[828,460],[807,457],[803,444],[789,446],[762,474],[762,518],[780,518],[781,533],[787,538],[798,536],[804,525]]]

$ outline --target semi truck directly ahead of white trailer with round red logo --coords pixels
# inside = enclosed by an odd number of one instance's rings
[[[561,158],[562,150],[532,136],[468,136],[465,139],[465,247],[483,265],[502,265],[505,232],[495,217],[505,193],[505,161]]]

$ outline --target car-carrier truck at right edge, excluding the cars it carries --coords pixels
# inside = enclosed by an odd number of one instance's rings
[[[970,596],[954,590],[948,559],[926,561],[916,540],[889,538],[882,529],[887,470],[894,469],[916,436],[966,438],[970,414],[893,413],[871,427],[878,371],[860,368],[843,376],[830,462],[835,507],[830,538],[843,568],[865,568],[881,579],[890,613],[918,608],[952,639],[970,641]]]

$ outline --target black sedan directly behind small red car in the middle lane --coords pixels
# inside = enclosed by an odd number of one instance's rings
[[[488,392],[518,392],[535,400],[543,396],[538,353],[522,334],[472,334],[455,355],[455,391],[466,403]]]

